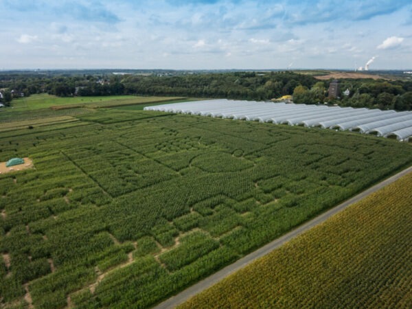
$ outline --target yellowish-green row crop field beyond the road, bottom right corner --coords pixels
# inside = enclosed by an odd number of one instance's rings
[[[412,174],[179,308],[411,308]]]

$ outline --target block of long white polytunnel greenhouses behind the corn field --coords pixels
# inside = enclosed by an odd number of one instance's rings
[[[360,133],[374,133],[382,137],[393,136],[399,141],[408,141],[412,137],[412,112],[410,111],[380,111],[367,108],[226,99],[162,104],[146,106],[144,109],[290,126],[358,130]]]

